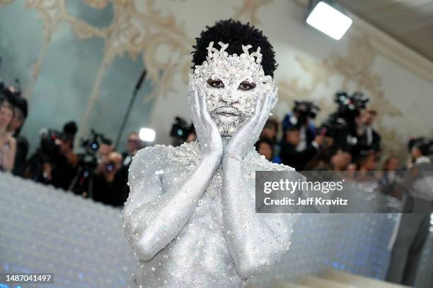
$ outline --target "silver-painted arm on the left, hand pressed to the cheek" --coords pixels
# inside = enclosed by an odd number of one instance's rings
[[[140,150],[129,169],[131,191],[122,221],[129,244],[144,261],[154,258],[183,229],[221,164],[221,136],[207,113],[202,90],[194,83],[189,99],[203,152],[196,169],[180,185],[171,183],[178,175],[171,172],[163,146]]]

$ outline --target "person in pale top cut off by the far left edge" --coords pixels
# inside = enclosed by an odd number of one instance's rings
[[[11,172],[16,157],[16,140],[9,132],[13,119],[13,106],[0,102],[0,171]]]

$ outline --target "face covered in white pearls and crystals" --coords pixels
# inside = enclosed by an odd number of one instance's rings
[[[275,81],[265,76],[260,47],[250,54],[251,46],[242,45],[243,54],[238,56],[224,51],[228,44],[219,42],[219,50],[213,44],[207,47],[207,60],[190,75],[190,89],[203,88],[207,110],[221,136],[231,136],[253,116],[258,97],[275,89]]]

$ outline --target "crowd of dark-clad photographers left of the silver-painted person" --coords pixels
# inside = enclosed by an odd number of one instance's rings
[[[39,147],[32,154],[21,127],[28,103],[20,90],[0,84],[0,171],[72,191],[101,203],[120,206],[128,196],[127,169],[132,156],[144,147],[137,133],[130,133],[127,148],[115,152],[112,140],[91,131],[81,139],[83,152],[74,152],[77,126],[64,124],[61,131],[42,129]]]

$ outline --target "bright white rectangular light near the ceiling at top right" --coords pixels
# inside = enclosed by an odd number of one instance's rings
[[[340,40],[352,25],[352,19],[321,1],[311,11],[306,23],[335,40]]]

